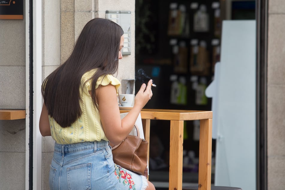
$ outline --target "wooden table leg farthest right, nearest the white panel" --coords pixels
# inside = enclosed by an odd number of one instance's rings
[[[199,190],[211,189],[212,119],[200,120]]]

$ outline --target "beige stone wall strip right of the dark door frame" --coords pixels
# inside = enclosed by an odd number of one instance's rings
[[[285,3],[268,3],[268,190],[285,188]]]

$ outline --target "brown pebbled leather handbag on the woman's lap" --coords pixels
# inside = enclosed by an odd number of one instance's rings
[[[148,142],[140,138],[139,129],[134,126],[137,135],[128,135],[119,145],[112,145],[114,163],[140,175],[148,176],[147,148]]]

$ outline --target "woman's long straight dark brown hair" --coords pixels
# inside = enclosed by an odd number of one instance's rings
[[[97,69],[92,76],[92,100],[98,108],[95,85],[99,76],[115,74],[122,28],[108,19],[95,18],[82,29],[70,57],[42,84],[48,114],[62,127],[68,127],[82,114],[79,102],[82,75]]]

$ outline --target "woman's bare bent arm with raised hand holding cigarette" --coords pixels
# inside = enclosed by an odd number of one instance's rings
[[[100,85],[96,89],[101,123],[106,137],[112,144],[120,144],[131,132],[141,109],[152,96],[151,83],[150,80],[147,86],[145,84],[141,86],[135,96],[134,107],[122,120],[115,87]]]

